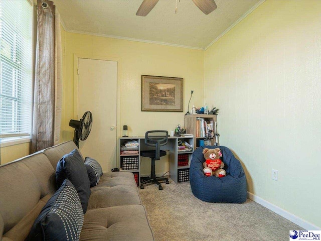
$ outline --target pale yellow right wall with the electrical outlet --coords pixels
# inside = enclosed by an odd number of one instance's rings
[[[248,190],[321,226],[321,1],[266,1],[205,51],[205,101]],[[271,170],[278,170],[278,181]]]

